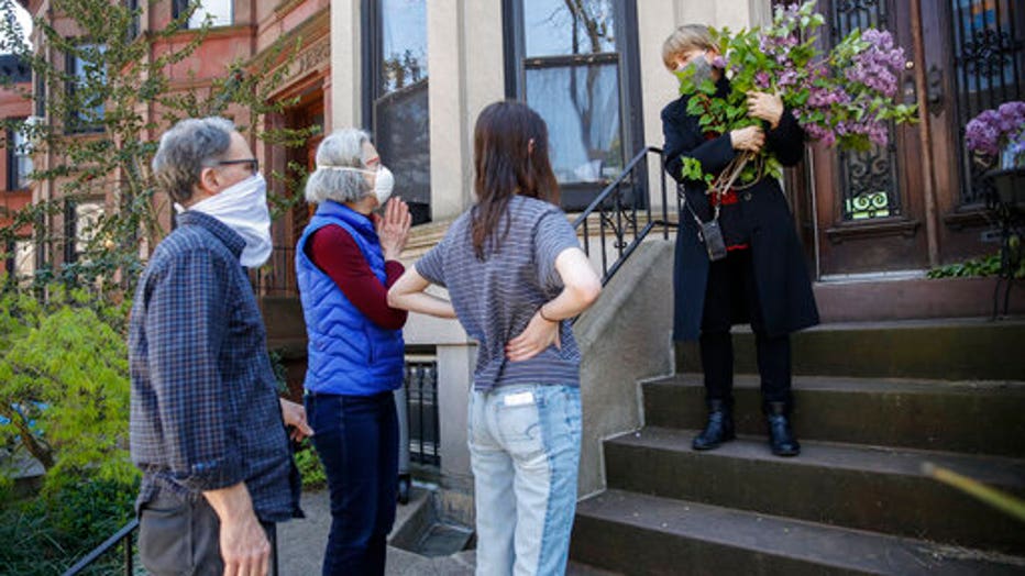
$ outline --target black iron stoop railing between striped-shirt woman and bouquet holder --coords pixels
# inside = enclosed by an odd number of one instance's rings
[[[648,155],[659,157],[661,180],[661,218],[652,219],[651,193],[648,186]],[[674,195],[675,196],[675,195]],[[679,202],[677,202],[679,213]],[[643,217],[643,220],[641,218]],[[592,220],[597,219],[597,224]],[[593,228],[597,234],[593,239]],[[597,243],[602,255],[602,284],[605,285],[622,264],[633,254],[648,234],[661,226],[662,237],[669,239],[669,230],[676,228],[669,220],[669,199],[665,187],[665,159],[662,149],[648,146],[633,156],[618,178],[606,186],[591,204],[576,217],[573,228],[583,232],[584,252],[592,259],[592,244]]]

